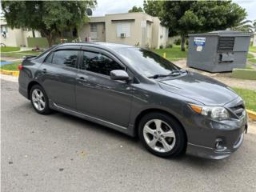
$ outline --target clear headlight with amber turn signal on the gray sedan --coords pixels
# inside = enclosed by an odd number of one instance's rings
[[[226,120],[230,118],[229,112],[222,106],[198,106],[190,104],[191,109],[198,114],[208,116],[218,120]]]

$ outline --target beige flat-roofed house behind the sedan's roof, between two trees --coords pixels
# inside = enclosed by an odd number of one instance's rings
[[[82,41],[114,42],[131,46],[166,46],[168,29],[157,17],[145,13],[106,14],[90,17],[78,30]]]

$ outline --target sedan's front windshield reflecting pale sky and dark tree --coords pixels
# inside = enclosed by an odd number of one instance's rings
[[[131,66],[134,66],[141,74],[145,74],[147,77],[154,76],[156,74],[168,75],[174,70],[179,70],[178,66],[175,66],[172,62],[169,62],[165,58],[162,58],[158,54],[150,50],[144,50],[141,48],[124,48],[115,50],[128,62]]]

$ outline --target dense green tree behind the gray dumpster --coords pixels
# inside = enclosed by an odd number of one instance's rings
[[[144,1],[144,10],[158,16],[170,36],[181,35],[182,51],[187,34],[226,30],[246,18],[246,10],[230,1]]]

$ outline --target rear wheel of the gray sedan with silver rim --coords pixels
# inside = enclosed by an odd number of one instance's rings
[[[32,86],[30,90],[30,102],[38,114],[50,114],[49,99],[46,91],[42,89],[42,86]]]

